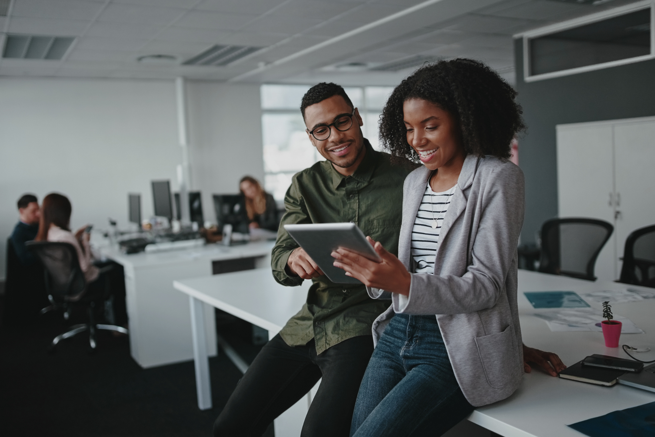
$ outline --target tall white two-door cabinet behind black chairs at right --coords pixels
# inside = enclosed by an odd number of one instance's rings
[[[595,275],[616,280],[627,236],[655,223],[655,117],[557,125],[560,217],[608,221]]]

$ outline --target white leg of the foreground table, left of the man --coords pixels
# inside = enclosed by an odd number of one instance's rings
[[[209,357],[207,354],[207,338],[204,324],[204,303],[189,296],[191,307],[191,335],[193,337],[193,362],[196,370],[196,392],[198,408],[212,408],[212,385],[209,377]]]

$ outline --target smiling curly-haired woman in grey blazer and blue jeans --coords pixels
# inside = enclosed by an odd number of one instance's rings
[[[351,437],[440,436],[510,396],[527,370],[516,265],[524,183],[507,159],[524,127],[515,96],[489,67],[456,59],[415,71],[384,107],[384,148],[423,165],[403,186],[398,257],[372,239],[381,261],[332,253],[371,297],[392,301],[373,322]]]

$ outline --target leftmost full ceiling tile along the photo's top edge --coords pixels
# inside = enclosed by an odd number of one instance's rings
[[[12,10],[12,18],[48,18],[59,20],[91,20],[102,3],[81,0],[20,0]]]

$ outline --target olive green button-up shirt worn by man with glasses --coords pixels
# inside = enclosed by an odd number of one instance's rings
[[[290,223],[353,221],[393,254],[398,254],[402,221],[403,181],[409,170],[392,166],[390,155],[373,150],[364,140],[366,154],[357,170],[343,176],[329,161],[316,162],[293,176],[286,193],[286,213],[272,251],[272,270],[280,284],[297,286],[303,279],[288,275],[285,267],[298,244],[284,230]],[[312,338],[316,353],[358,335],[371,335],[373,320],[389,306],[371,299],[364,284],[335,284],[327,276],[312,280],[307,303],[280,331],[290,346]]]

